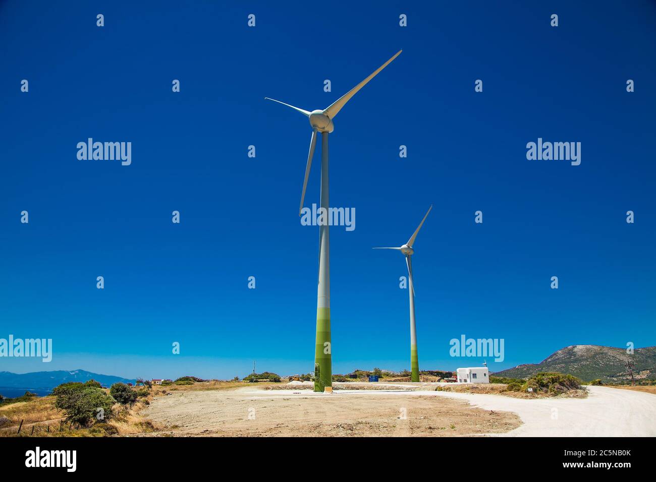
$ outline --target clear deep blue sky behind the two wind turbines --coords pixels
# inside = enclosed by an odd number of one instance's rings
[[[0,370],[310,371],[310,125],[264,96],[325,108],[399,49],[331,134],[331,205],[356,208],[356,230],[331,230],[333,372],[409,369],[405,263],[371,247],[407,241],[430,204],[421,369],[480,363],[449,357],[461,334],[504,338],[494,371],[656,344],[653,2],[228,4],[0,3],[0,337],[54,344]],[[132,164],[77,160],[89,137],[132,142]],[[528,161],[539,137],[581,142],[581,165]]]

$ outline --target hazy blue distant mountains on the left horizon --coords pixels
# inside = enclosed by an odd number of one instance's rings
[[[92,378],[105,387],[109,387],[117,382],[134,383],[134,380],[121,378],[120,376],[101,375],[84,370],[58,370],[31,373],[0,372],[0,387],[51,390],[62,383],[86,382]]]

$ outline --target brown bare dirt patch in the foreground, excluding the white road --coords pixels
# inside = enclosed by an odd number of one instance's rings
[[[173,393],[142,412],[173,436],[462,436],[505,433],[522,423],[511,412],[405,393],[314,394],[237,388]],[[405,414],[405,419],[403,419]]]

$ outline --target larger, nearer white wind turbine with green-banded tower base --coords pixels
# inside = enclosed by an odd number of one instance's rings
[[[328,134],[333,132],[333,119],[335,115],[342,110],[358,90],[362,89],[371,79],[386,68],[392,60],[401,53],[396,52],[390,60],[377,68],[369,77],[361,81],[356,87],[349,90],[338,98],[333,104],[324,110],[313,110],[312,112],[290,106],[285,102],[265,97],[267,100],[273,100],[283,106],[291,107],[308,117],[312,126],[312,137],[310,138],[310,152],[308,153],[308,163],[305,167],[305,178],[303,180],[303,190],[300,193],[300,207],[298,216],[303,209],[305,199],[305,190],[308,186],[308,176],[310,175],[310,166],[312,166],[312,155],[314,147],[317,144],[317,132],[321,132],[321,207],[328,212]],[[331,359],[331,329],[330,329],[330,239],[327,224],[319,225],[319,285],[317,289],[317,332],[314,351],[314,391],[324,392],[329,388],[333,390],[333,366]]]

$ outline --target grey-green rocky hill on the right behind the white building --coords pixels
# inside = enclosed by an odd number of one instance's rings
[[[632,355],[625,348],[597,345],[573,345],[556,351],[540,363],[529,363],[496,372],[497,376],[527,378],[538,372],[568,373],[584,382],[601,378],[608,382],[623,382],[631,379],[626,370],[626,361],[635,365],[636,380],[656,379],[656,346],[636,348]]]

